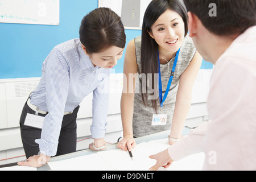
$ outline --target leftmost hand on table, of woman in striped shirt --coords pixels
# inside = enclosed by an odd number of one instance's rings
[[[51,156],[44,154],[34,155],[28,158],[26,161],[18,162],[19,166],[29,166],[29,167],[42,167],[49,162]]]

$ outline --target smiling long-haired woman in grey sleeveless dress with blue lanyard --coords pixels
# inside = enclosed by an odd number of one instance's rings
[[[148,5],[142,36],[126,48],[119,148],[131,151],[134,137],[165,130],[171,130],[170,144],[181,138],[202,61],[187,33],[187,11],[179,0]]]

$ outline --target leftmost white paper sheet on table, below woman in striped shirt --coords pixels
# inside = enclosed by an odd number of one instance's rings
[[[60,160],[56,162],[48,162],[52,171],[113,171],[110,166],[98,154],[90,154],[79,156],[76,158]]]

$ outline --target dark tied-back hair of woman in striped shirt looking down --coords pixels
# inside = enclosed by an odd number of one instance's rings
[[[100,7],[84,16],[79,30],[80,41],[89,54],[109,46],[124,48],[125,28],[121,18],[109,8]]]

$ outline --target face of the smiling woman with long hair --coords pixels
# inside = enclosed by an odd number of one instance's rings
[[[159,49],[176,52],[184,40],[185,30],[183,19],[175,11],[167,9],[152,24],[151,32],[148,33],[158,43]]]

